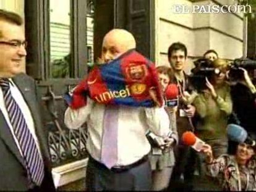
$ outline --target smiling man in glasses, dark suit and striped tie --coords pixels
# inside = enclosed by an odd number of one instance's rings
[[[0,191],[55,191],[22,18],[0,10]]]

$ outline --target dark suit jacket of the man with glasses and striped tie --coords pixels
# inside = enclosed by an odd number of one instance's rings
[[[45,164],[45,178],[36,191],[55,191],[53,177],[51,175],[51,161],[46,130],[43,129],[41,122],[35,81],[23,73],[14,77],[13,80],[31,111],[35,123],[36,136]],[[0,191],[7,190],[27,191],[28,180],[23,158],[15,144],[4,115],[0,111]]]

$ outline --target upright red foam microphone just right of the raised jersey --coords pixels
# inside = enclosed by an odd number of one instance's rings
[[[165,105],[167,107],[176,107],[178,105],[179,89],[176,84],[169,84],[165,91]]]

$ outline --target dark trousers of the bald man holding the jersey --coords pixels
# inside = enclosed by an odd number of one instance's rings
[[[150,163],[147,158],[129,169],[109,170],[89,157],[85,183],[88,191],[150,191]]]

